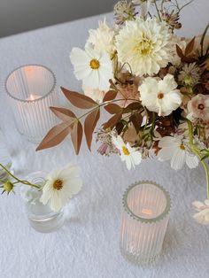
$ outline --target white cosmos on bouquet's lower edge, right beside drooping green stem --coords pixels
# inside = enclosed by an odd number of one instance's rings
[[[171,167],[174,170],[182,169],[185,164],[192,168],[198,166],[198,158],[193,154],[182,140],[182,136],[165,136],[159,140],[159,161],[171,160]]]

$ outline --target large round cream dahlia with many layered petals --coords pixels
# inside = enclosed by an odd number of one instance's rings
[[[172,59],[174,36],[158,19],[127,21],[116,35],[119,61],[128,63],[136,75],[159,73]]]

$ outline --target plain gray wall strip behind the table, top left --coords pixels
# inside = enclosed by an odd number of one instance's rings
[[[0,37],[111,12],[117,0],[0,0]]]

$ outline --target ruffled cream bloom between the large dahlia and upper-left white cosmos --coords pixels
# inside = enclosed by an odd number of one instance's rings
[[[99,22],[99,27],[97,29],[89,30],[87,43],[91,43],[97,51],[108,53],[112,58],[115,51],[114,36],[114,30],[107,26],[104,19],[103,22]]]

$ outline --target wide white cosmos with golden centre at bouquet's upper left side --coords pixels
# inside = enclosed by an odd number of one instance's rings
[[[83,85],[92,89],[106,91],[112,79],[112,61],[105,52],[98,52],[90,47],[85,50],[74,48],[70,59],[74,65],[74,74]]]

